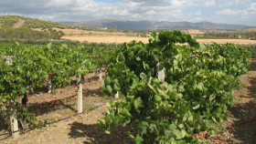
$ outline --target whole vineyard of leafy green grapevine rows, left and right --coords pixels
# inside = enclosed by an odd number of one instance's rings
[[[81,98],[86,76],[98,68],[100,80],[101,69],[106,75],[101,92],[109,98],[119,93],[122,100],[106,104],[107,114],[98,119],[97,128],[111,134],[120,125],[134,126],[126,134],[138,144],[206,142],[216,126],[228,120],[234,91],[240,89],[239,76],[251,67],[251,52],[243,47],[199,45],[180,31],[153,33],[149,44],[132,41],[118,47],[20,46],[13,40],[0,53],[0,102],[10,129],[17,125],[16,113],[25,121],[22,125],[27,124],[23,129],[48,123],[27,110],[27,93],[46,84],[48,93],[56,94],[56,88],[69,86],[76,77]],[[25,100],[19,104],[18,98]]]

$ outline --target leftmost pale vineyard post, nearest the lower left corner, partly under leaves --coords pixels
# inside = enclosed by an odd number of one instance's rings
[[[18,130],[18,124],[17,124],[17,115],[16,115],[16,103],[15,103],[15,98],[12,98],[10,100],[10,110],[11,110],[11,130],[13,131],[17,131]],[[13,137],[14,138],[18,138],[19,134],[18,132],[13,133]]]

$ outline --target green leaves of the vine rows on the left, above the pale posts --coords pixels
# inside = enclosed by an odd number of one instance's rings
[[[112,55],[115,47],[91,47],[41,45],[24,46],[12,39],[11,46],[0,47],[2,57],[13,56],[12,64],[7,65],[5,59],[0,60],[0,107],[10,109],[10,99],[23,97],[26,92],[34,92],[36,87],[42,87],[48,81],[55,87],[66,87],[70,84],[71,76],[87,75],[89,70],[94,70],[97,65],[106,65],[107,59]],[[93,50],[93,51],[91,51]],[[101,55],[101,53],[104,55]],[[92,58],[93,57],[93,58]],[[95,60],[94,60],[95,57]],[[46,78],[48,80],[46,80]],[[118,83],[114,90],[120,90]],[[112,87],[109,88],[112,93]],[[127,113],[123,109],[123,114]],[[27,116],[30,126],[41,127],[43,123],[22,107],[18,108],[20,116]]]

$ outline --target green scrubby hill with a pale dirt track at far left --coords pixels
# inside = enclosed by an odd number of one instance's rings
[[[60,24],[61,23],[61,24]],[[83,31],[101,31],[114,32],[114,29],[98,29],[89,26],[72,26],[76,22],[44,21],[40,19],[28,18],[20,15],[2,15],[0,16],[0,38],[18,38],[18,39],[60,39],[65,36],[63,31],[83,30]],[[69,23],[69,24],[64,24]],[[80,32],[81,33],[81,32]]]

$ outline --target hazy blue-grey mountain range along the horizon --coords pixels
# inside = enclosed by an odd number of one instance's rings
[[[99,19],[89,20],[74,23],[75,26],[89,26],[89,27],[110,27],[118,30],[167,30],[167,29],[201,29],[201,30],[244,30],[253,28],[254,26],[243,25],[228,25],[216,24],[207,21],[190,23],[190,22],[168,22],[168,21],[129,21],[129,20],[114,20],[114,19]]]

